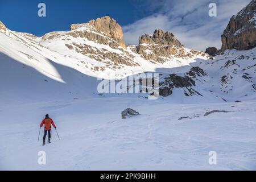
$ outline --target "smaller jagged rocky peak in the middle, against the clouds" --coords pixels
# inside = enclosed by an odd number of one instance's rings
[[[182,47],[182,44],[177,40],[171,32],[163,30],[155,30],[152,36],[147,34],[139,38],[139,44],[159,44],[161,46],[177,46]]]

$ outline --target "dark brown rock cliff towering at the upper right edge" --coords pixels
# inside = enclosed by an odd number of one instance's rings
[[[256,47],[256,0],[232,16],[221,35],[221,52],[226,49],[247,50]]]

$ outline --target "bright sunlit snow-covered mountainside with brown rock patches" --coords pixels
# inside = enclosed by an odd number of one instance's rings
[[[36,67],[36,64],[44,63],[44,60],[49,59],[86,75],[102,78],[122,78],[134,73],[154,71],[156,68],[172,68],[177,66],[177,62],[179,66],[187,65],[197,57],[202,57],[184,48],[192,57],[181,59],[167,57],[164,63],[145,60],[134,52],[132,46],[127,49],[119,47],[115,40],[97,31],[88,23],[82,24],[75,30],[50,32],[40,38],[10,31],[7,28],[0,36],[2,40],[0,51],[22,63],[26,62],[31,67]],[[205,55],[204,58],[207,59],[207,56]],[[35,60],[38,63],[35,64]],[[109,76],[113,71],[115,77]],[[59,79],[57,76],[56,78]]]

